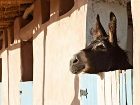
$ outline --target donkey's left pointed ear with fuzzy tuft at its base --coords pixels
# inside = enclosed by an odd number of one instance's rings
[[[95,36],[95,39],[100,37],[100,36],[105,36],[105,37],[107,36],[107,34],[106,34],[106,32],[105,32],[105,30],[100,22],[99,15],[97,15],[97,17],[96,17],[96,27],[95,27],[95,29],[92,28],[91,34],[93,36]]]

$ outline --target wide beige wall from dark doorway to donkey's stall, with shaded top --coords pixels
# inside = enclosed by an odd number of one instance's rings
[[[79,105],[73,101],[75,82],[69,60],[86,44],[86,2],[77,0],[72,10],[59,17],[58,1],[52,0],[51,19],[41,27],[36,22],[33,105]]]

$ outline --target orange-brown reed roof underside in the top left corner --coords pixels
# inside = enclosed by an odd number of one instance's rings
[[[11,25],[16,17],[23,15],[25,9],[29,7],[31,3],[27,5],[7,5],[6,7],[5,5],[0,5],[0,28],[7,28]]]

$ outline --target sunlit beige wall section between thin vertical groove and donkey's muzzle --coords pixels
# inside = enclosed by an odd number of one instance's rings
[[[69,71],[69,60],[86,41],[87,5],[76,9],[80,2],[85,1],[77,0],[70,16],[69,12],[46,28],[45,105],[70,105],[73,101],[74,75]]]

